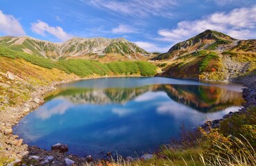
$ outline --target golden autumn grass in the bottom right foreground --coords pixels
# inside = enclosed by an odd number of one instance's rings
[[[244,138],[246,139],[246,138]],[[110,160],[99,160],[94,163],[84,163],[85,166],[252,166],[256,165],[255,149],[248,140],[243,142],[239,138],[232,138],[231,141],[239,149],[237,151],[230,151],[228,145],[223,145],[223,142],[214,142],[214,148],[219,151],[226,151],[225,154],[204,154],[203,149],[190,148],[173,151],[173,149],[165,149],[161,151],[162,156],[154,155],[149,160],[126,160],[119,156],[118,158],[110,158]]]

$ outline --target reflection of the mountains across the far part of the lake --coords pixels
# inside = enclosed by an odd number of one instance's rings
[[[191,109],[201,112],[220,111],[230,106],[240,106],[241,93],[216,86],[160,84],[132,89],[59,89],[51,93],[47,100],[65,99],[73,104],[125,104],[146,92],[163,92],[168,97]],[[147,98],[155,98],[151,93]]]

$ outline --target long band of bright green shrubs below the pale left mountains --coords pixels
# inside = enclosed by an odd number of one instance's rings
[[[149,62],[110,62],[108,64],[102,64],[100,62],[85,59],[63,59],[54,62],[51,59],[17,52],[6,47],[0,47],[0,56],[12,59],[24,59],[37,66],[49,69],[58,68],[66,73],[74,73],[80,77],[112,74],[154,76],[156,74],[156,66]]]

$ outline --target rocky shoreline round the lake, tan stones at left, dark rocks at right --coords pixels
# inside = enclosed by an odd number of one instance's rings
[[[75,80],[53,82],[53,84],[43,86],[40,89],[37,89],[37,91],[31,93],[31,98],[24,102],[22,106],[8,107],[6,108],[6,111],[1,111],[0,149],[2,150],[0,150],[0,156],[6,157],[6,162],[9,163],[9,166],[21,163],[22,160],[25,163],[33,163],[33,165],[73,165],[74,163],[76,165],[83,165],[83,163],[93,160],[92,156],[85,156],[82,158],[71,154],[65,154],[61,151],[46,151],[35,146],[28,146],[23,143],[22,139],[19,139],[19,136],[12,135],[12,126],[17,124],[19,120],[28,113],[43,104],[44,95],[55,90],[54,86],[76,80],[83,79],[79,78]],[[228,113],[220,120],[205,122],[202,126],[204,129],[207,129],[210,126],[217,128],[219,127],[219,122],[221,122],[221,120],[229,118],[235,113],[244,113],[248,107],[256,107],[256,77],[250,77],[249,79],[244,80],[244,85],[247,88],[243,89],[243,98],[246,101],[243,103],[243,108],[237,112]],[[106,157],[108,157],[108,154],[106,154]]]

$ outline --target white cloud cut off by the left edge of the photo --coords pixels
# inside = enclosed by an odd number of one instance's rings
[[[22,25],[19,24],[18,19],[12,15],[5,15],[0,10],[0,33],[6,35],[26,35],[25,31],[22,28]]]

